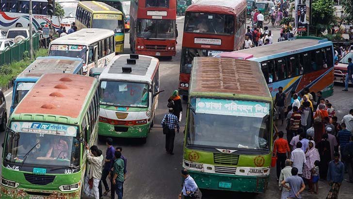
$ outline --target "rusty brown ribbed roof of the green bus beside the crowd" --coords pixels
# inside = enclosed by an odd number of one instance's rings
[[[225,93],[272,100],[258,64],[232,58],[195,57],[190,95],[193,93]]]

